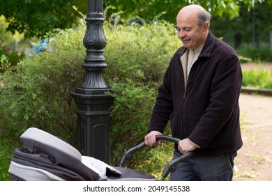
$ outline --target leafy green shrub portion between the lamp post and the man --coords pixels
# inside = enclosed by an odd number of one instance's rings
[[[105,78],[114,91],[112,163],[117,165],[125,149],[143,141],[158,86],[180,42],[174,26],[166,23],[105,29]],[[135,162],[129,166],[135,166]]]

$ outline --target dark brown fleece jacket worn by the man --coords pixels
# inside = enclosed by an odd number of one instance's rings
[[[165,72],[151,114],[148,132],[164,131],[170,120],[172,136],[200,146],[196,154],[235,153],[243,145],[239,124],[242,72],[235,50],[209,36],[192,65],[185,90],[180,47]]]

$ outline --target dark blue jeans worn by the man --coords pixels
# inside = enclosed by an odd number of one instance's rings
[[[174,158],[181,153],[174,151]],[[176,166],[170,174],[171,181],[231,181],[233,176],[234,157],[227,155],[192,156]]]

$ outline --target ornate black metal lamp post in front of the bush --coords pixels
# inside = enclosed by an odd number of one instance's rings
[[[82,155],[95,157],[109,164],[110,111],[112,97],[106,95],[109,87],[103,78],[107,68],[103,56],[107,44],[103,24],[103,0],[88,0],[83,68],[86,78],[72,93],[77,104],[78,150]]]

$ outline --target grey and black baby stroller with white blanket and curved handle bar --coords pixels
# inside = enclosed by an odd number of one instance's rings
[[[160,135],[157,139],[179,142],[179,139],[165,135]],[[148,173],[123,167],[126,160],[133,157],[133,153],[145,146],[144,142],[127,150],[121,157],[120,166],[114,167],[93,157],[82,156],[63,139],[34,127],[24,132],[20,141],[22,148],[14,150],[8,169],[13,181],[157,180]],[[160,180],[165,180],[170,172],[175,171],[176,164],[191,155],[192,153],[186,153],[169,162]]]

